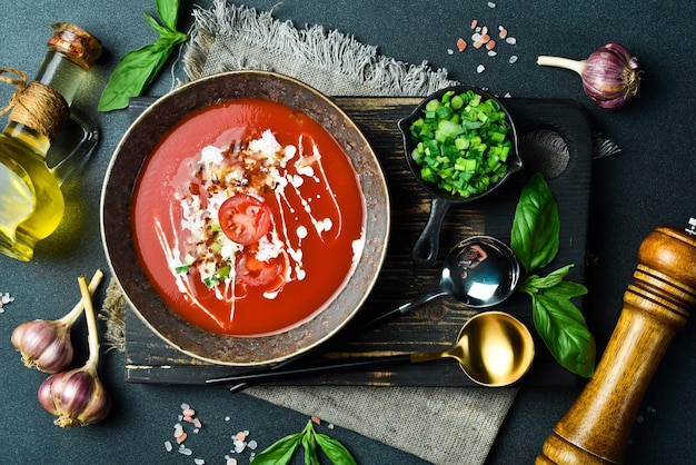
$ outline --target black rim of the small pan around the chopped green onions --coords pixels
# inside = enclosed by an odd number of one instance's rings
[[[421,111],[425,109],[426,105],[428,105],[428,101],[437,99],[439,100],[446,92],[449,92],[454,90],[455,92],[466,92],[468,90],[473,90],[474,92],[480,95],[481,97],[486,98],[486,99],[493,99],[496,100],[499,105],[500,108],[503,109],[503,111],[505,112],[505,116],[507,117],[508,122],[510,123],[510,130],[513,132],[513,152],[511,156],[508,158],[507,161],[507,166],[508,166],[508,170],[507,174],[503,177],[503,179],[498,180],[493,187],[488,188],[487,190],[483,191],[481,194],[477,194],[475,196],[471,197],[467,197],[464,198],[461,196],[457,196],[454,194],[450,194],[444,189],[438,188],[435,184],[432,182],[428,182],[425,179],[422,179],[422,177],[420,176],[420,174],[418,172],[418,167],[416,166],[416,164],[414,162],[410,154],[412,151],[412,141],[410,140],[410,135],[409,135],[409,128],[411,122],[418,118],[421,113]],[[440,90],[437,90],[432,93],[430,93],[429,96],[425,97],[420,103],[418,103],[418,106],[416,106],[416,108],[414,109],[414,111],[405,117],[401,118],[397,125],[399,128],[399,131],[401,132],[401,138],[402,138],[402,142],[404,142],[404,156],[406,157],[406,164],[408,165],[408,169],[411,171],[412,176],[416,178],[416,180],[418,181],[418,184],[428,192],[430,194],[431,197],[435,198],[440,198],[443,200],[447,200],[450,204],[468,204],[478,199],[481,199],[488,195],[490,195],[491,192],[498,190],[500,188],[500,186],[503,186],[509,178],[510,176],[513,176],[515,172],[521,170],[523,168],[523,160],[521,157],[519,156],[519,137],[518,137],[518,131],[517,131],[517,125],[515,123],[515,118],[513,118],[513,116],[510,115],[510,111],[508,110],[507,106],[501,101],[503,99],[491,95],[490,92],[487,92],[486,90],[475,87],[475,86],[466,86],[466,85],[457,85],[457,86],[449,86],[446,88],[443,88]]]

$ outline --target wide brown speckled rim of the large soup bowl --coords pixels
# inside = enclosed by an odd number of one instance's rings
[[[248,92],[251,85],[258,86],[259,90],[257,91],[259,93],[241,95],[245,91]],[[207,91],[212,91],[213,95],[205,95],[202,99],[193,98],[197,92],[205,93]],[[304,111],[325,127],[341,145],[354,165],[367,215],[365,247],[360,259],[327,308],[324,308],[309,320],[287,330],[257,337],[235,337],[206,332],[168,309],[149,285],[137,260],[130,227],[130,194],[139,178],[142,164],[157,141],[168,129],[191,111],[219,101],[231,101],[241,97],[267,99],[278,97],[284,103]],[[296,102],[296,106],[290,105],[290,100]],[[176,111],[162,116],[161,111],[169,109],[168,106],[173,106]],[[322,112],[326,118],[320,118],[321,115],[319,113]],[[138,130],[146,122],[152,123],[156,128],[156,133],[149,137],[152,141],[147,142],[151,144],[151,147],[142,150],[142,154],[125,155],[125,151],[130,148],[129,146],[136,144],[132,139],[139,136]],[[348,141],[350,144],[347,144]],[[125,160],[125,157],[129,157],[129,159]],[[138,160],[137,166],[127,166],[130,158],[133,157]],[[117,194],[113,192],[119,192],[119,198],[127,198],[125,202],[127,205],[115,202],[113,197]],[[109,226],[118,220],[118,218],[112,218],[113,215],[118,215],[121,220],[126,218],[128,237],[115,237],[117,233],[109,230]],[[162,96],[145,109],[130,125],[112,154],[102,184],[100,200],[100,230],[108,266],[127,303],[135,310],[133,313],[159,338],[179,352],[199,360],[229,366],[258,366],[291,358],[326,342],[348,324],[367,299],[384,265],[390,231],[390,217],[387,184],[377,156],[348,115],[327,96],[305,82],[277,72],[256,70],[229,71],[191,81]],[[130,245],[130,247],[123,250],[123,247],[119,247],[119,245]],[[130,271],[135,270],[136,276],[129,275],[127,273],[129,270],[125,269],[123,266],[125,263],[133,259],[136,265],[131,266]],[[358,280],[362,291],[356,296],[355,288],[357,286],[355,281]],[[354,295],[349,295],[351,290]],[[153,298],[153,300],[146,304],[143,301],[146,296]],[[336,307],[341,308],[336,309]],[[336,315],[331,311],[335,311]],[[330,319],[329,316],[336,316],[337,320]],[[165,328],[163,324],[167,323],[175,325],[177,329]],[[212,350],[210,344],[215,345]],[[245,357],[240,357],[240,352],[243,352]]]

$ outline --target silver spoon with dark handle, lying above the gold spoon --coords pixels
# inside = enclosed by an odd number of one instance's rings
[[[355,330],[334,338],[328,344],[338,345],[350,340],[356,334],[365,334],[381,324],[406,314],[435,298],[451,296],[469,308],[488,308],[507,299],[517,287],[520,265],[513,250],[503,241],[490,236],[473,236],[457,244],[445,258],[438,287],[422,297],[404,304],[375,319],[367,321]],[[326,350],[326,347],[321,348]],[[310,358],[316,350],[308,350],[287,360],[274,365],[267,370],[274,372],[296,365]],[[207,379],[207,384],[227,384],[237,376]],[[249,383],[240,383],[230,388],[240,392]]]

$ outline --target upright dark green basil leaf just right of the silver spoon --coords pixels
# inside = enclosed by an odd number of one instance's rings
[[[545,267],[556,257],[559,231],[556,198],[537,172],[520,194],[510,241],[510,248],[527,273]]]

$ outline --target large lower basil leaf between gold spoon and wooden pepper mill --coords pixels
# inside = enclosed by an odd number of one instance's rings
[[[575,286],[558,285],[531,295],[534,325],[564,368],[591,377],[595,373],[595,339],[587,329],[583,314],[569,297],[578,290]]]

